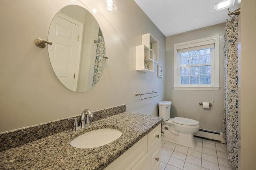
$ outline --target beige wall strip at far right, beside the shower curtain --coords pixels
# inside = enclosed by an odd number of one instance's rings
[[[238,169],[256,169],[256,0],[239,0]]]

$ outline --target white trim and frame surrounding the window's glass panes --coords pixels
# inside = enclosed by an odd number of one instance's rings
[[[214,40],[214,61],[212,63],[212,70],[211,76],[213,77],[212,85],[207,84],[200,84],[200,85],[191,85],[191,84],[180,84],[180,64],[178,63],[177,59],[177,48],[179,46],[193,46],[191,44],[204,44],[204,41]],[[196,46],[195,44],[195,46]],[[192,41],[186,41],[183,43],[174,44],[174,90],[211,90],[211,91],[218,91],[220,88],[220,36],[213,36],[213,37],[206,37],[202,39],[196,39]]]

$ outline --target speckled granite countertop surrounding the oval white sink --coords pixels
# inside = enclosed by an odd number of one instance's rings
[[[91,123],[78,131],[64,131],[0,152],[0,169],[102,170],[163,121],[162,117],[123,112]],[[122,131],[121,137],[97,148],[70,145],[75,137],[101,128]]]

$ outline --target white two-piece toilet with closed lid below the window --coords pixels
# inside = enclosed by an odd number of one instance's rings
[[[199,130],[199,122],[184,117],[174,117],[171,119],[171,104],[171,101],[158,103],[159,116],[164,118],[162,123],[162,139],[185,147],[195,148],[194,133]]]

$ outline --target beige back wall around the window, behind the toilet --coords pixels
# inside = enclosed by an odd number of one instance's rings
[[[201,129],[222,132],[224,102],[224,29],[225,23],[166,37],[166,99],[172,101],[171,117],[180,116],[199,121]],[[173,48],[175,43],[220,35],[220,90],[173,90]],[[214,100],[214,102],[212,101]],[[210,102],[210,109],[203,109],[199,102]]]

